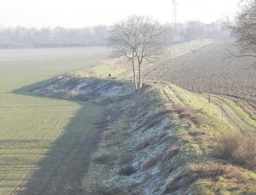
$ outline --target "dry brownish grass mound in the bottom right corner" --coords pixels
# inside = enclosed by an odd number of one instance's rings
[[[189,164],[186,169],[188,175],[197,179],[193,194],[255,194],[255,179],[231,164],[208,161]]]

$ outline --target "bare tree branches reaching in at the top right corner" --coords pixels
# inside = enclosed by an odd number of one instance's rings
[[[234,57],[256,57],[256,0],[243,0],[239,3],[241,10],[233,21],[226,19],[223,25],[235,38],[238,54],[230,51]]]

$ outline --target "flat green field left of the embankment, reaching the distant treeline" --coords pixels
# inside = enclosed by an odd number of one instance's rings
[[[51,166],[66,155],[68,145],[88,137],[85,130],[93,130],[101,113],[88,102],[25,90],[106,56],[106,48],[0,50],[0,194],[36,191],[49,179]]]

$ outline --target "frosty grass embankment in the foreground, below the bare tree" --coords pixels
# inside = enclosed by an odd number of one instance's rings
[[[219,108],[197,94],[166,82],[150,85],[107,108],[108,125],[92,156],[85,191],[255,194],[254,169],[219,152],[220,138],[238,133],[236,121],[222,119]]]

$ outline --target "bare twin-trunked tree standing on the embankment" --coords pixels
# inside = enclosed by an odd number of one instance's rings
[[[165,26],[151,17],[132,15],[116,22],[109,31],[107,45],[113,49],[112,57],[125,56],[132,63],[136,91],[142,88],[143,61],[153,61],[165,50],[166,30]],[[135,64],[138,66],[139,85]]]

